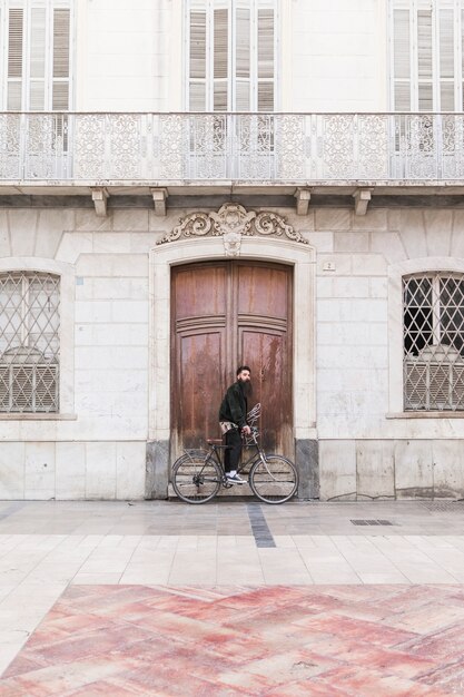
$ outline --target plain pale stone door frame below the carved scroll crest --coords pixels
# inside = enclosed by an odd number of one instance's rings
[[[171,266],[228,258],[220,237],[177,239],[149,253],[148,440],[164,452],[170,440]],[[295,440],[316,440],[315,251],[290,239],[243,237],[240,259],[294,267],[293,415]],[[167,479],[167,472],[166,472]]]

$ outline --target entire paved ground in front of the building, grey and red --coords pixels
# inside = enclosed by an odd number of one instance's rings
[[[234,635],[234,639],[227,639],[230,642],[230,660],[233,664],[238,660],[241,665],[239,657],[245,650],[247,668],[243,665],[240,669],[237,666],[227,668],[224,665],[225,674],[233,677],[229,679],[226,675],[220,689],[211,686],[210,677],[198,676],[198,689],[191,691],[192,695],[461,695],[464,694],[464,671],[458,667],[461,658],[455,664],[448,660],[446,670],[444,664],[451,648],[455,652],[458,646],[460,656],[464,651],[464,646],[456,644],[456,637],[464,636],[463,583],[462,502],[295,501],[270,507],[256,501],[237,500],[219,500],[205,505],[174,501],[3,501],[0,502],[0,673],[6,673],[0,680],[0,695],[91,697],[106,691],[111,697],[122,697],[188,694],[181,691],[181,680],[167,684],[165,674],[159,684],[151,676],[151,687],[144,687],[141,683],[138,687],[130,687],[128,684],[122,685],[124,680],[119,685],[119,673],[118,679],[115,677],[115,660],[120,639],[111,639],[111,628],[119,637],[121,632],[118,634],[120,627],[118,631],[116,629],[116,616],[121,617],[127,602],[122,610],[115,603],[116,615],[110,617],[110,628],[107,624],[105,627],[101,625],[95,610],[96,605],[105,606],[118,588],[121,591],[124,588],[131,589],[128,590],[132,596],[131,607],[141,602],[140,593],[144,597],[151,593],[150,602],[157,608],[159,603],[162,606],[166,596],[169,600],[169,622],[174,621],[176,615],[178,630],[182,626],[179,618],[185,611],[186,597],[199,599],[196,612],[206,612],[207,616],[211,602],[216,612],[224,602],[230,605],[225,599],[234,597],[237,621],[245,609],[250,611],[250,603],[255,603],[253,612],[259,612],[260,602],[264,602],[267,609],[263,611],[268,613],[269,597],[276,602],[276,588],[279,589],[277,597],[289,599],[286,609],[282,606],[279,617],[272,618],[272,613],[268,617],[275,627],[275,641],[285,644],[285,637],[289,631],[292,634],[294,624],[297,625],[295,636],[298,638],[295,639],[293,654],[295,660],[292,659],[292,662],[288,659],[287,665],[279,651],[279,660],[284,661],[282,665],[287,666],[282,668],[284,673],[277,670],[270,683],[251,680],[249,677],[247,685],[236,684],[245,679],[239,677],[241,673],[255,675],[251,664],[257,657],[248,655],[250,646],[247,646],[246,634],[240,635],[239,641]],[[270,596],[265,591],[266,588]],[[296,602],[292,588],[298,595]],[[76,598],[79,598],[79,611],[85,618],[81,618],[80,625],[76,625],[71,617],[76,613]],[[342,609],[340,598],[344,598]],[[382,619],[376,613],[373,598],[386,603],[385,612],[393,619],[386,620],[386,615]],[[362,617],[363,602],[367,601],[372,609],[366,610],[366,617]],[[389,602],[393,602],[393,609]],[[316,606],[317,612],[314,609]],[[434,607],[440,607],[440,612],[434,611]],[[139,609],[142,610],[142,607]],[[129,632],[134,639],[134,665],[141,660],[136,660],[137,647],[141,652],[152,650],[155,660],[159,655],[158,635],[162,635],[161,628],[166,624],[166,608],[157,609],[158,615],[150,616],[149,627],[144,626],[144,618],[148,618],[149,613],[136,612],[139,617],[136,622],[131,611],[124,622],[126,629],[130,625],[134,630],[134,634]],[[58,629],[53,624],[57,612],[60,618]],[[313,621],[315,613],[318,616],[317,621]],[[354,625],[342,622],[340,617],[347,615]],[[105,648],[112,656],[111,669],[108,656],[91,661],[91,668],[88,661],[87,668],[82,667],[85,655],[80,651],[85,650],[82,647],[88,645],[89,637],[80,645],[75,632],[82,631],[82,627],[88,631],[86,621],[93,630],[96,626],[100,627],[98,646],[101,645],[101,650]],[[220,631],[216,627],[220,636],[228,636],[230,621],[229,617],[227,627],[221,625]],[[391,641],[386,637],[386,644],[379,638],[378,647],[387,651],[389,658],[385,654],[382,664],[377,657],[377,667],[373,667],[373,657],[369,657],[367,650],[369,632],[373,630],[373,625],[368,622],[395,626],[411,635],[402,635],[397,641],[396,637],[391,637]],[[135,624],[137,631],[134,629]],[[267,651],[274,650],[272,647],[275,646],[268,644],[266,634],[272,630],[272,625],[263,624],[254,639],[255,644],[266,646]],[[189,625],[186,628],[188,630]],[[192,636],[197,636],[196,631]],[[313,655],[316,650],[314,646],[309,651],[315,635],[325,642],[324,651],[316,651],[318,658]],[[332,640],[327,638],[330,636]],[[201,641],[201,632],[198,637]],[[60,654],[58,646],[68,640],[72,640],[72,650],[62,648]],[[159,646],[167,650],[170,640],[172,637],[164,636]],[[365,664],[359,657],[359,666],[369,666],[374,673],[377,670],[366,683],[371,686],[371,693],[359,687],[361,678],[353,674],[352,662],[337,657],[339,641],[345,642],[344,650],[349,652],[359,640],[365,649]],[[411,651],[408,641],[413,646]],[[428,651],[427,642],[432,642],[435,649]],[[219,646],[223,644],[218,640]],[[176,656],[186,661],[187,655],[182,652],[186,647],[176,646],[174,641],[172,651],[176,654],[178,650]],[[71,661],[79,678],[57,687],[57,676],[53,674],[51,679],[52,667],[47,662],[49,652],[55,656],[53,650],[60,654],[60,660],[68,669]],[[401,660],[393,660],[392,651],[403,651]],[[38,654],[41,657],[37,658]],[[304,657],[297,659],[298,656]],[[56,659],[53,665],[60,665],[60,660]],[[399,673],[391,673],[386,667],[391,660],[395,665],[398,660],[403,666]],[[312,669],[307,668],[309,664]],[[413,664],[415,668],[412,668]],[[306,666],[302,668],[303,677],[298,675],[299,665]],[[110,674],[116,681],[105,685],[105,676]],[[237,675],[234,677],[233,674]],[[287,676],[286,687],[283,687],[280,680],[284,674]],[[269,671],[267,675],[270,675]],[[83,687],[79,683],[82,679]],[[310,680],[312,691],[307,691],[307,680]],[[413,691],[407,680],[413,680]],[[103,685],[99,686],[101,681]],[[48,683],[61,691],[47,691]],[[286,691],[290,684],[294,691]],[[382,691],[382,685],[385,685],[386,691]],[[251,689],[255,691],[249,691]]]

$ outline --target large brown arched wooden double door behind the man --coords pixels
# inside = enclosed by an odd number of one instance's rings
[[[261,403],[261,439],[294,455],[292,414],[293,269],[278,264],[211,262],[171,274],[172,455],[219,436],[218,411],[236,367],[251,369]]]

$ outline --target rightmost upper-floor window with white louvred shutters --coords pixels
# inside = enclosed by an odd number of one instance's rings
[[[395,111],[464,107],[464,0],[391,0]]]

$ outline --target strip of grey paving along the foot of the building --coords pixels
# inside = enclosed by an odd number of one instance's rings
[[[1,503],[1,502],[0,502]],[[289,501],[284,505],[256,500],[216,501],[203,507],[178,501],[29,501],[0,508],[4,538],[33,531],[86,536],[224,536],[251,534],[247,509],[258,507],[273,536],[440,536],[461,534],[464,502],[456,501]],[[1,514],[1,510],[4,514]],[[354,526],[353,519],[391,520],[392,526]],[[12,542],[16,544],[16,541]],[[1,554],[1,552],[0,552]]]

